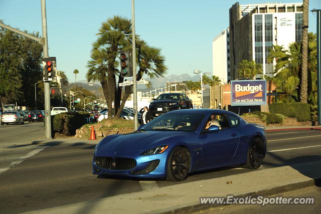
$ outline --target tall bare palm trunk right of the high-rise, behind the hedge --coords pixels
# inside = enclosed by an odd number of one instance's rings
[[[302,31],[302,63],[301,63],[301,83],[300,83],[300,102],[307,103],[307,30],[309,16],[309,1],[303,0],[303,31]]]

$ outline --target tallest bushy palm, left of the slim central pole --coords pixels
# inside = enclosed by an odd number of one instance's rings
[[[95,78],[102,83],[109,109],[112,109],[112,101],[117,93],[116,75],[120,76],[117,69],[119,63],[116,61],[116,57],[122,48],[128,46],[130,34],[131,21],[129,19],[118,16],[108,19],[102,23],[99,29],[97,42],[93,45],[93,60],[88,62],[87,80],[90,81],[93,78],[92,74],[97,73]],[[111,118],[112,114],[113,111],[108,111],[108,118]]]

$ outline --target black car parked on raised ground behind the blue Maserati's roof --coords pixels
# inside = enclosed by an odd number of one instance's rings
[[[193,102],[183,93],[161,94],[149,104],[152,117],[184,108],[193,108]]]

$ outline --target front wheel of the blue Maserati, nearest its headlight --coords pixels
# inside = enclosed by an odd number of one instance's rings
[[[189,152],[186,148],[176,147],[167,163],[167,177],[169,181],[181,181],[188,177],[190,170]]]

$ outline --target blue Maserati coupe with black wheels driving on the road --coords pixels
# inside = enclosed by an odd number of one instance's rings
[[[211,168],[259,168],[265,153],[264,126],[229,111],[181,109],[132,133],[102,139],[94,149],[92,173],[180,181]]]

